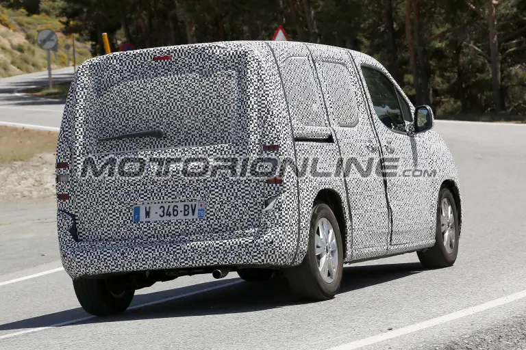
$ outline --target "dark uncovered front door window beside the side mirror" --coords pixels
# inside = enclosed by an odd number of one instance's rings
[[[378,70],[362,67],[362,72],[376,115],[381,122],[389,129],[400,129],[401,125],[405,127],[395,86]]]

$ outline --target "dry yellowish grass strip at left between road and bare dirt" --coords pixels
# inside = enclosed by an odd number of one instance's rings
[[[0,163],[27,161],[37,154],[55,153],[58,133],[0,126]]]

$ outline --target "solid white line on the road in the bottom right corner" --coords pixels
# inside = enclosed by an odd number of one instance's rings
[[[412,325],[408,325],[400,329],[395,329],[390,332],[377,334],[376,336],[370,336],[369,338],[364,338],[362,340],[355,340],[353,342],[348,342],[347,344],[340,345],[338,347],[333,347],[328,350],[359,349],[361,347],[366,347],[368,345],[376,344],[377,342],[383,342],[384,340],[397,338],[399,336],[405,336],[405,334],[418,332],[422,329],[433,327],[435,325],[441,325],[442,323],[447,323],[449,321],[461,319],[462,317],[471,316],[472,314],[477,314],[478,312],[481,312],[484,310],[489,310],[491,308],[497,308],[497,306],[508,304],[508,303],[511,303],[512,301],[523,299],[524,297],[526,297],[526,290],[520,291],[518,293],[514,293],[512,295],[507,295],[499,299],[494,299],[484,304],[472,306],[471,308],[466,308],[464,310],[451,312],[451,314],[444,314],[444,316],[436,317],[434,319],[430,319],[430,320],[423,321],[420,323],[414,323]]]

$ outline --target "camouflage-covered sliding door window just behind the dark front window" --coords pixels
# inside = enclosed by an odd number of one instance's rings
[[[358,123],[358,109],[352,84],[351,72],[343,64],[334,62],[321,62],[318,65],[334,119],[340,126],[355,126]]]

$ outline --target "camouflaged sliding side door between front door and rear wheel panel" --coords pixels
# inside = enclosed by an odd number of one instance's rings
[[[345,261],[368,257],[357,255],[358,250],[364,248],[373,248],[370,250],[373,254],[386,254],[390,221],[384,183],[375,174],[380,157],[374,149],[379,147],[379,142],[364,104],[360,78],[345,49],[309,46],[347,173],[345,185],[352,220],[347,222]]]

